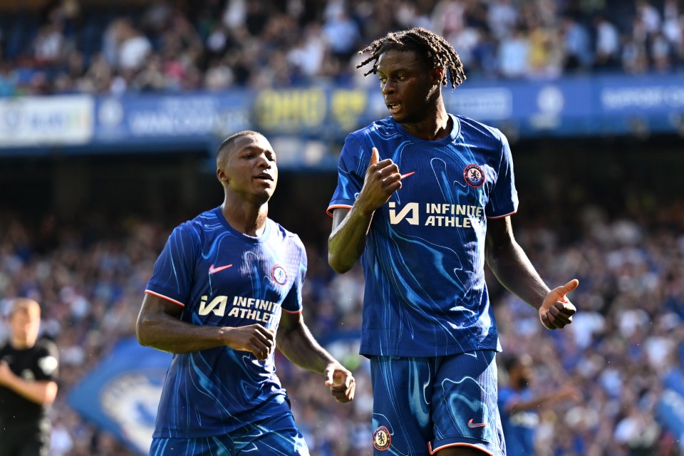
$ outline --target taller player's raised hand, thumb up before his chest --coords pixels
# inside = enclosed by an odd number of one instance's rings
[[[397,164],[390,158],[380,160],[378,148],[373,147],[363,188],[356,201],[365,211],[373,212],[385,204],[390,196],[401,188],[400,180],[401,175]]]

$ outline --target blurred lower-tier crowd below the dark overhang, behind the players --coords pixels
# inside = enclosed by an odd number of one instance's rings
[[[61,353],[52,455],[133,455],[71,410],[66,395],[116,341],[133,336],[142,291],[172,224],[83,216],[74,224],[46,217],[36,225],[13,212],[1,214],[0,338],[11,298],[40,301],[43,334]],[[574,276],[581,282],[572,297],[579,313],[562,331],[544,330],[533,309],[500,288],[491,290],[504,352],[530,353],[537,363],[532,388],[548,393],[572,383],[582,393],[579,402],[541,410],[537,454],[679,455],[680,443],[656,419],[656,409],[663,378],[684,365],[684,206],[611,214],[584,204],[573,219],[516,217],[518,240],[546,281]],[[321,378],[278,353],[279,376],[312,454],[369,455],[373,400],[368,365],[353,337],[360,328],[363,277],[358,269],[334,274],[326,246],[308,240],[313,233],[300,234],[309,254],[306,320],[353,369],[356,399],[335,403]]]

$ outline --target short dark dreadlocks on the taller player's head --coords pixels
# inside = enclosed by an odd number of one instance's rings
[[[451,81],[451,88],[456,88],[465,81],[463,63],[461,63],[461,59],[453,46],[442,36],[423,27],[390,32],[385,37],[373,41],[366,48],[358,51],[359,54],[370,53],[371,56],[359,63],[356,68],[366,66],[372,61],[373,68],[363,76],[378,73],[378,58],[381,53],[390,49],[415,51],[418,55],[424,56],[433,68],[446,68],[448,74],[442,80],[442,86],[447,85],[447,78]]]

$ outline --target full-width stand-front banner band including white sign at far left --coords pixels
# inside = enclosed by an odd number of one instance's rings
[[[206,151],[239,130],[282,139],[284,167],[334,167],[348,133],[388,116],[374,76],[363,86],[0,99],[0,155]],[[684,77],[576,76],[470,81],[442,89],[447,110],[518,138],[680,134]]]

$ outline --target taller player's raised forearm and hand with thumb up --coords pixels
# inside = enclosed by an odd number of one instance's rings
[[[351,209],[338,208],[333,212],[333,230],[328,238],[328,264],[338,274],[352,268],[366,247],[366,236],[375,209],[388,202],[401,188],[399,167],[390,159],[379,161],[373,147],[366,170],[363,188]]]

